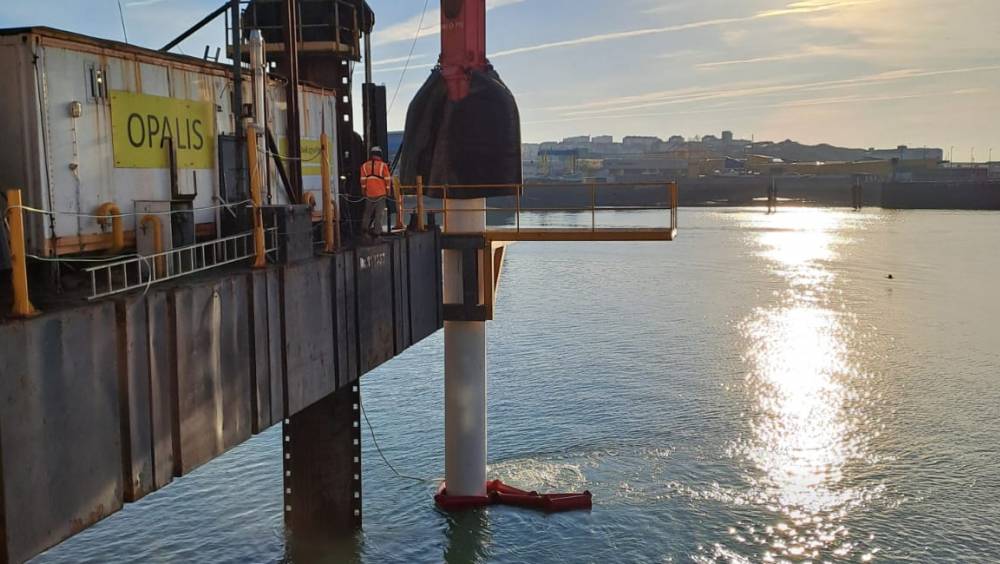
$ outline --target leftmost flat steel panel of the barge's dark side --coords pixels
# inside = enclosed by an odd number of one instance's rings
[[[0,560],[20,562],[122,507],[115,305],[0,326]]]

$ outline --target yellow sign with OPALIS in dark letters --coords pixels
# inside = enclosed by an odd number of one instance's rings
[[[117,168],[169,168],[169,140],[177,168],[215,166],[215,104],[115,90],[111,130]]]

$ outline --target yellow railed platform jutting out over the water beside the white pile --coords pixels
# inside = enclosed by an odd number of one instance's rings
[[[508,213],[513,214],[513,225],[487,225],[487,238],[496,241],[672,241],[677,234],[677,184],[675,182],[627,182],[627,183],[579,183],[579,184],[491,184],[491,185],[425,185],[418,178],[415,185],[398,185],[396,204],[402,213],[415,213],[417,228],[424,229],[427,214],[442,216],[445,232],[448,232],[449,215],[469,212]],[[600,204],[600,191],[614,189],[660,188],[664,190],[665,203],[661,205],[609,205]],[[490,196],[488,200],[497,198],[513,198],[513,205],[486,205],[483,208],[461,208],[449,210],[449,192],[461,192],[466,196],[470,191],[482,190],[484,193],[495,193],[498,190],[510,191],[510,196]],[[589,203],[572,206],[526,206],[525,193],[529,190],[587,190]],[[433,196],[429,195],[433,194]],[[407,206],[407,198],[413,202]],[[427,207],[428,198],[440,201],[439,207]],[[608,198],[610,199],[610,198]],[[611,211],[659,211],[666,212],[666,225],[661,227],[613,227],[598,223],[599,212]],[[589,226],[574,225],[566,227],[526,227],[522,224],[522,214],[546,213],[576,213],[590,214]]]

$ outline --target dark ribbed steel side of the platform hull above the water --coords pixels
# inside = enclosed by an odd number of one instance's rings
[[[0,324],[0,562],[350,389],[440,328],[438,240],[412,234]]]

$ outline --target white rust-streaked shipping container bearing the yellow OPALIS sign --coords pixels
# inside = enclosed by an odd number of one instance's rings
[[[205,208],[195,213],[197,232],[201,237],[218,233],[220,214],[225,213],[211,209],[225,203],[220,199],[218,136],[235,130],[230,67],[30,28],[0,30],[0,76],[0,131],[6,137],[0,149],[0,190],[21,188],[25,205],[56,212],[25,215],[29,253],[106,249],[109,230],[90,217],[102,204],[114,203],[129,214],[137,200],[170,200],[170,167],[153,163],[157,159],[165,163],[166,131],[185,149],[178,150],[178,192],[196,194],[193,206]],[[244,74],[243,90],[243,99],[251,102],[249,72]],[[319,157],[310,149],[318,148],[320,135],[326,132],[336,198],[336,93],[309,86],[300,86],[299,92],[304,189],[321,201]],[[272,79],[266,98],[268,126],[284,146],[285,85]],[[177,109],[162,121],[153,116],[162,112],[151,110],[144,121],[140,112],[128,114],[123,100]],[[211,123],[195,124],[192,130],[184,108],[198,119],[209,115]],[[127,145],[123,139],[136,146],[123,146]],[[265,203],[287,203],[271,159],[268,166]],[[131,244],[135,218],[127,216],[123,222]]]

